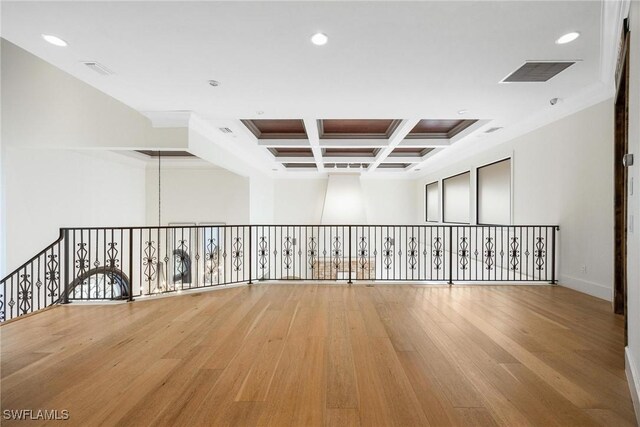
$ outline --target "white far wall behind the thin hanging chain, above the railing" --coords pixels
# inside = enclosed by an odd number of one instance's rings
[[[179,163],[179,162],[178,162]],[[175,222],[249,223],[249,178],[225,169],[191,164],[162,166],[162,225]],[[150,162],[146,172],[146,218],[158,224],[158,167]]]

